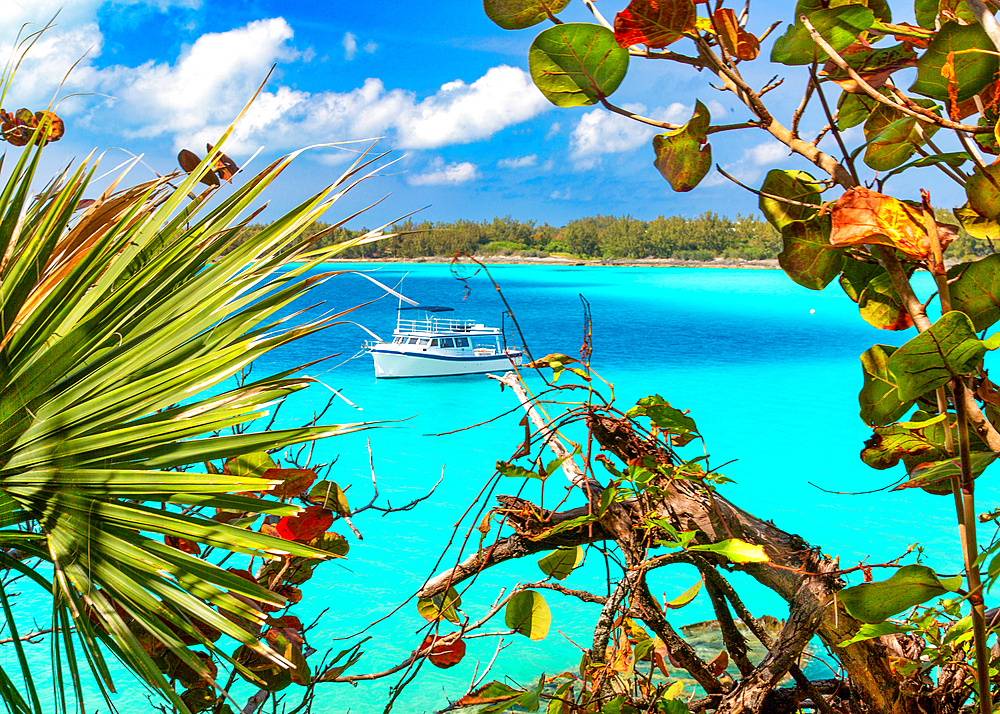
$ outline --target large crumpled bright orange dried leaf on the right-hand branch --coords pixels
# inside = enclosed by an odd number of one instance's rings
[[[864,186],[845,191],[833,205],[835,246],[888,245],[917,260],[931,257],[930,237],[918,207]],[[938,223],[941,247],[958,237],[956,226]]]

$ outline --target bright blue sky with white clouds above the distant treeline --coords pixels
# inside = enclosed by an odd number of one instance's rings
[[[627,3],[597,4],[613,18]],[[790,15],[792,4],[785,4],[782,14]],[[778,18],[775,7],[758,5],[749,29],[760,34]],[[714,170],[694,191],[674,193],[653,168],[652,128],[599,107],[550,105],[526,71],[528,47],[545,26],[502,30],[477,0],[7,0],[5,9],[8,49],[21,23],[44,23],[61,9],[5,108],[43,108],[83,58],[61,90],[61,96],[82,96],[60,104],[67,136],[53,145],[53,167],[116,147],[104,157],[108,168],[127,151],[142,154],[150,167],[136,168],[137,179],[150,177],[151,169],[169,171],[180,149],[203,153],[277,64],[228,153],[242,163],[261,150],[255,165],[263,166],[303,146],[383,137],[379,145],[402,158],[335,211],[389,199],[354,227],[417,209],[423,209],[419,218],[433,221],[511,215],[553,225],[597,214],[651,219],[756,212],[756,197]],[[561,17],[591,16],[573,0]],[[766,62],[778,34],[744,72],[761,86],[787,70],[788,88],[768,95],[787,121],[802,82],[796,70]],[[686,40],[675,48],[693,51]],[[750,118],[731,95],[709,88],[709,79],[687,67],[633,59],[613,100],[681,123],[696,97],[710,108],[713,123]],[[824,123],[807,115],[804,135]],[[773,166],[808,168],[762,131],[711,141],[714,161],[750,185],[759,185]],[[832,151],[830,143],[822,146]],[[265,215],[318,191],[351,156],[331,148],[306,152],[272,191]]]

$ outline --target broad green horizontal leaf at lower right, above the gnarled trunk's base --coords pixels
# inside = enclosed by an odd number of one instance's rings
[[[853,617],[875,624],[961,586],[961,575],[941,579],[926,565],[905,565],[888,580],[846,588],[837,598]]]

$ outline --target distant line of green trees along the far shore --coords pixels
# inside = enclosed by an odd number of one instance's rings
[[[945,220],[944,216],[939,220]],[[949,222],[957,223],[953,218]],[[245,232],[252,234],[265,227],[252,224]],[[307,235],[329,228],[327,224],[316,223],[307,229]],[[480,256],[764,260],[777,258],[781,252],[781,234],[767,221],[739,214],[730,219],[710,211],[697,218],[659,216],[652,221],[628,215],[595,216],[570,221],[561,228],[510,216],[482,223],[415,223],[408,219],[386,232],[401,235],[348,248],[342,255],[369,259],[424,258],[464,251]],[[364,228],[337,228],[324,235],[320,244],[341,243],[365,233]],[[990,246],[985,241],[972,239],[962,231],[961,238],[948,249],[947,257],[967,258],[988,252]]]

